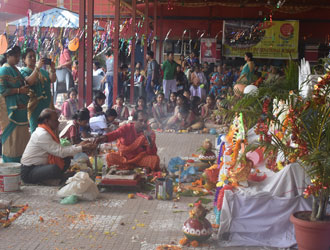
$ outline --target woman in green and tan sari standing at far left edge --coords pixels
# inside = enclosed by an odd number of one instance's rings
[[[14,46],[6,52],[6,63],[0,68],[0,126],[3,162],[20,162],[30,139],[27,120],[29,87],[16,68],[21,49]]]

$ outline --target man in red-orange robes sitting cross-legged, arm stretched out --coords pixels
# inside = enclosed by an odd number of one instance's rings
[[[147,125],[147,113],[144,110],[136,111],[134,121],[134,123],[125,124],[97,140],[100,143],[118,139],[118,152],[107,155],[108,166],[119,165],[121,169],[142,167],[158,171],[159,157],[155,144],[156,135]]]

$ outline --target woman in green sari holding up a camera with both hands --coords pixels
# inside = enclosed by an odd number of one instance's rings
[[[55,64],[50,62],[50,73],[42,69],[47,63],[47,59],[41,58],[36,62],[36,53],[33,49],[27,48],[22,54],[22,59],[26,67],[21,69],[21,74],[30,85],[30,100],[28,103],[28,119],[31,133],[38,126],[38,117],[45,108],[52,108],[53,101],[50,91],[50,84],[56,81]]]

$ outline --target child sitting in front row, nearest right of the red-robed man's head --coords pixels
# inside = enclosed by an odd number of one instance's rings
[[[167,105],[164,101],[164,94],[159,93],[157,95],[157,102],[152,106],[153,119],[150,120],[150,126],[152,129],[163,129],[167,123]]]

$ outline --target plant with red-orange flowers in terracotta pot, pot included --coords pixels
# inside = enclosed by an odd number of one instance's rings
[[[265,156],[281,152],[283,166],[298,162],[305,169],[311,183],[304,195],[312,196],[312,211],[297,212],[290,220],[295,225],[299,249],[329,250],[330,72],[315,85],[312,96],[307,99],[291,91],[286,101],[287,110],[280,111],[287,113],[284,121],[269,112],[269,99],[265,103],[264,117],[257,125],[262,140],[249,145],[246,151],[263,148]],[[316,230],[314,235],[311,235],[312,228]],[[306,242],[310,240],[314,241]],[[317,245],[319,243],[321,245]]]

